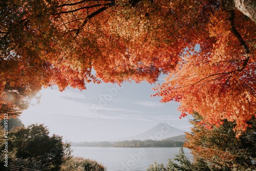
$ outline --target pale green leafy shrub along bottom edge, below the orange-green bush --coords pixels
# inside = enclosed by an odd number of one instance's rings
[[[191,163],[189,159],[184,155],[183,148],[180,147],[179,154],[175,155],[173,160],[168,159],[166,168],[164,165],[154,163],[147,168],[147,171],[228,171],[227,167],[215,167],[214,165],[208,165],[203,159],[197,159]],[[254,171],[255,169],[232,169],[232,171]]]

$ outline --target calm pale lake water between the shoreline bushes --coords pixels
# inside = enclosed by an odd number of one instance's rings
[[[146,171],[156,161],[167,164],[179,153],[178,147],[167,148],[122,148],[122,147],[78,147],[72,146],[73,155],[94,159],[108,168],[108,171]],[[189,149],[183,148],[185,156],[193,158]]]

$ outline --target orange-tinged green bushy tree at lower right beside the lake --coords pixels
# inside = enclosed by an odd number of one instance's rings
[[[247,130],[237,137],[236,122],[222,120],[220,125],[210,125],[197,112],[189,122],[191,133],[186,133],[187,147],[194,160],[203,159],[208,165],[226,167],[227,170],[256,170],[256,118],[252,117]]]

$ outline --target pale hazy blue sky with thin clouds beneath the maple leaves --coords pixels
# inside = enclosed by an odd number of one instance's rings
[[[159,83],[163,82],[163,77]],[[142,133],[165,122],[177,129],[189,130],[188,118],[179,119],[178,103],[161,103],[154,84],[125,82],[121,87],[112,83],[87,84],[87,90],[57,87],[40,91],[41,99],[31,105],[20,119],[25,126],[45,123],[51,134],[64,140],[105,141]]]

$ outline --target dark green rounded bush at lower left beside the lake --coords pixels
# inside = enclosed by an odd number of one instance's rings
[[[13,154],[13,157],[8,156],[8,162],[24,162],[25,165],[30,166],[29,163],[33,160],[42,170],[58,170],[65,156],[65,148],[70,146],[62,142],[62,137],[55,134],[49,136],[49,131],[44,125],[32,124],[9,133],[8,155]],[[5,144],[1,144],[1,151],[4,150]],[[1,159],[3,160],[4,157],[2,156]],[[3,164],[4,162],[1,161],[1,169],[6,168]]]

